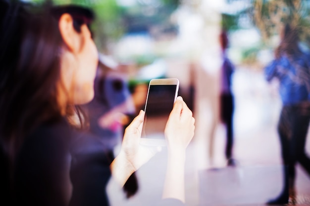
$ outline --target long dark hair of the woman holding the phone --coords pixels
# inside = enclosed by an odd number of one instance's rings
[[[11,159],[25,135],[62,116],[57,102],[63,44],[59,17],[69,13],[79,32],[94,15],[78,6],[3,0],[0,8],[0,149]]]

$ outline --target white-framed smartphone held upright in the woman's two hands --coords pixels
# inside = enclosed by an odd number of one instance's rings
[[[179,91],[178,79],[152,79],[145,104],[141,144],[166,146],[164,129]]]

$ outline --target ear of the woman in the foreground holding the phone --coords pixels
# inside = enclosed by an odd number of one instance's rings
[[[70,14],[64,13],[60,16],[58,27],[63,42],[69,51],[76,53],[82,46],[82,35],[74,30],[73,18]]]

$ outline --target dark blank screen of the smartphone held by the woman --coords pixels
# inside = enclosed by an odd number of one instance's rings
[[[177,85],[150,85],[142,137],[164,139],[164,128],[173,108]]]

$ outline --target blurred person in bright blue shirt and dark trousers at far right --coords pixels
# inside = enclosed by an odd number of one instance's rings
[[[295,165],[300,163],[310,174],[310,158],[305,143],[310,122],[310,54],[299,47],[298,28],[284,26],[275,59],[265,68],[268,82],[279,81],[282,109],[277,126],[281,143],[284,187],[279,197],[268,204],[285,204],[295,200]]]

